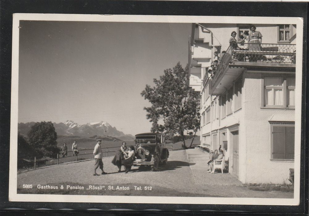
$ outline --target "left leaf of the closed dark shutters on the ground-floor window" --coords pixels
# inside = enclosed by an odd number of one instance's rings
[[[273,159],[286,158],[286,127],[273,126]]]

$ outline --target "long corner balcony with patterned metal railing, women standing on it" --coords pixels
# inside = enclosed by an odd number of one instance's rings
[[[245,69],[278,70],[280,68],[294,71],[295,61],[295,44],[260,44],[258,51],[233,49],[230,46],[217,67],[213,69],[210,93],[223,93]]]

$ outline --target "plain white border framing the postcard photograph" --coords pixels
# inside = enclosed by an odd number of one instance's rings
[[[167,15],[80,15],[80,14],[13,14],[12,32],[12,82],[11,82],[11,136],[9,200],[32,202],[101,202],[101,203],[167,203],[167,204],[229,204],[229,205],[299,205],[300,193],[300,141],[301,141],[301,96],[303,59],[296,59],[295,88],[295,160],[294,198],[224,198],[224,197],[153,197],[17,194],[17,125],[18,125],[18,75],[19,75],[19,21],[89,21],[89,22],[151,22],[151,23],[269,23],[296,24],[298,56],[303,56],[303,19],[297,17],[240,17],[240,16],[167,16]]]

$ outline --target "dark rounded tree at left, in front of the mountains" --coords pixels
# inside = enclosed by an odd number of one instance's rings
[[[40,156],[55,157],[60,152],[56,140],[57,133],[52,122],[37,122],[28,132],[29,144]]]

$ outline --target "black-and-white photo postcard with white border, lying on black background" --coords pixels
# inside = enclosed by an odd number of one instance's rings
[[[303,19],[14,14],[10,201],[298,205]]]

